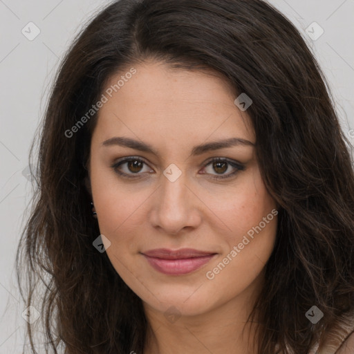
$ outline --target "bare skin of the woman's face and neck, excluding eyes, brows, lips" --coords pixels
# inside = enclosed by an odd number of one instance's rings
[[[277,216],[214,279],[207,279],[206,272],[276,209],[276,203],[263,185],[254,146],[190,156],[195,145],[215,140],[242,138],[254,144],[250,118],[234,104],[232,88],[216,73],[169,69],[160,62],[134,67],[137,73],[100,109],[88,185],[100,232],[111,242],[107,255],[142,299],[149,322],[144,353],[256,353],[254,326],[245,322],[263,286]],[[124,73],[111,77],[106,87],[120,75]],[[146,142],[158,156],[102,145],[118,136]],[[138,171],[142,178],[124,178],[111,168],[129,156],[146,165],[139,170],[125,163],[118,170],[130,176]],[[235,169],[232,165],[226,171],[213,169],[212,158],[228,158],[245,168],[215,180]],[[181,171],[174,182],[163,174],[171,163]],[[167,275],[151,268],[141,254],[155,248],[217,254],[192,273]],[[171,306],[178,314],[174,320],[165,316]]]

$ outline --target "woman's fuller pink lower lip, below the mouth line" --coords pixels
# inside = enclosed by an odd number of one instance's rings
[[[194,272],[209,262],[216,254],[186,259],[161,259],[144,254],[150,265],[163,274],[182,275]]]

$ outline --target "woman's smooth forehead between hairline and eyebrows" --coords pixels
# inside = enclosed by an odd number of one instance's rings
[[[133,68],[133,75],[127,75],[129,69],[120,71],[104,88],[108,100],[96,128],[106,136],[129,127],[136,135],[207,139],[217,131],[219,138],[233,132],[254,140],[250,118],[236,107],[234,89],[221,75],[171,69],[158,62]]]

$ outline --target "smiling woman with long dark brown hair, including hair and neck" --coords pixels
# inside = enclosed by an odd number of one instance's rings
[[[50,348],[354,353],[346,142],[268,3],[111,4],[57,75],[19,247]]]

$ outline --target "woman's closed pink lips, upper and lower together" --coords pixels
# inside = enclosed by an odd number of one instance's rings
[[[149,264],[159,272],[170,275],[187,274],[201,268],[209,262],[216,253],[181,248],[168,250],[159,248],[142,253]]]

